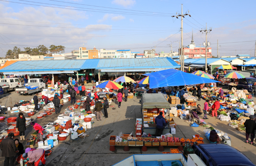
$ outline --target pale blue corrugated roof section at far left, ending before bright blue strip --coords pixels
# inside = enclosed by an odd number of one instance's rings
[[[0,72],[44,72],[80,70],[86,60],[33,60],[17,61]]]

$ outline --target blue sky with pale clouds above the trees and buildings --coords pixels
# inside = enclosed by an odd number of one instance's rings
[[[217,39],[221,56],[254,55],[255,1],[7,0],[0,1],[0,56],[15,45],[39,44],[65,45],[66,53],[83,44],[143,53],[155,46],[157,52],[169,52],[172,43],[178,51],[181,21],[170,16],[181,13],[181,4],[191,15],[183,19],[183,45],[190,43],[192,29],[195,43],[202,44],[205,34],[199,30],[207,22],[213,55]]]

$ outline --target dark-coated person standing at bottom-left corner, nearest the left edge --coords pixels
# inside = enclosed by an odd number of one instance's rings
[[[5,157],[4,166],[14,165],[14,156],[16,156],[17,147],[14,143],[13,137],[13,132],[9,133],[7,138],[3,139],[0,144],[2,157]]]

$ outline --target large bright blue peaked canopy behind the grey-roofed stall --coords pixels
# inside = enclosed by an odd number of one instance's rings
[[[198,77],[197,75],[185,73],[181,70],[176,70],[173,68],[150,74],[144,74],[144,76],[150,76],[150,88],[219,82],[203,77]]]

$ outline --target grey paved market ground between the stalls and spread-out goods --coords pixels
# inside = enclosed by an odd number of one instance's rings
[[[18,96],[13,92],[11,92],[7,97],[0,98],[0,105],[3,105],[8,101],[7,106],[9,106],[10,97],[13,102],[15,100],[18,101],[21,98],[22,100],[30,100],[32,98],[32,96]],[[140,147],[130,147],[129,152],[123,151],[122,147],[116,147],[115,152],[111,152],[109,150],[109,138],[111,135],[118,135],[120,132],[135,132],[134,124],[136,122],[136,118],[140,118],[139,100],[140,97],[128,99],[127,102],[122,102],[120,108],[114,104],[114,107],[109,108],[109,118],[102,118],[102,121],[96,121],[96,119],[93,120],[93,122],[95,122],[93,128],[87,131],[90,135],[89,137],[84,139],[80,138],[77,141],[73,141],[73,143],[70,143],[69,138],[66,141],[61,141],[58,146],[53,148],[52,155],[47,157],[47,165],[112,165],[131,156],[132,154],[161,153],[157,151],[156,147],[147,148],[147,152],[142,152]],[[204,100],[201,100],[198,104],[202,106],[204,102]],[[61,112],[67,108],[69,104],[70,103],[66,103]],[[10,116],[10,114],[8,115]],[[53,114],[52,116],[45,117],[42,120],[35,121],[40,125],[45,125],[49,122],[53,122],[56,118],[57,115]],[[181,120],[179,117],[174,117],[174,120],[177,124],[175,136],[191,138],[192,135],[200,134],[205,138],[203,133],[205,128],[190,127],[189,124],[185,123],[184,120]],[[232,139],[232,147],[237,148],[250,158],[252,162],[256,163],[255,146],[245,143],[244,131],[238,131],[228,127],[228,123],[222,122],[214,117],[209,117],[209,120],[206,120],[206,123],[220,131],[226,132]],[[26,137],[28,137],[32,132],[31,127],[28,127]],[[165,152],[169,152],[169,148],[171,147],[166,147]],[[2,157],[0,165],[3,165],[3,160],[4,158]]]

